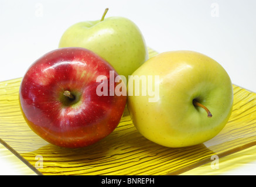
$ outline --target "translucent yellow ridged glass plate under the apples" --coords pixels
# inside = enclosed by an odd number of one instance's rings
[[[149,57],[157,54],[149,49]],[[125,109],[117,129],[85,148],[53,146],[33,133],[19,109],[21,78],[0,82],[0,138],[43,175],[177,175],[256,145],[256,93],[233,85],[233,113],[206,143],[168,148],[135,129]]]

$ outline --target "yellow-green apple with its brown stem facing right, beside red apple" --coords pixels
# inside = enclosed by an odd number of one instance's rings
[[[142,84],[149,76],[158,78]],[[141,84],[137,87],[135,77]],[[153,100],[149,85],[159,93]],[[131,88],[127,106],[136,129],[166,147],[210,140],[226,125],[233,108],[233,85],[226,70],[194,51],[168,51],[150,58],[129,78],[128,91]]]

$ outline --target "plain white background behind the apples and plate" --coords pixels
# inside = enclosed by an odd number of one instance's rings
[[[105,8],[110,9],[106,17],[134,21],[159,53],[206,54],[226,69],[233,84],[256,92],[254,0],[1,0],[0,81],[23,77],[37,58],[57,49],[67,27],[100,19]],[[248,169],[256,173],[255,166]]]

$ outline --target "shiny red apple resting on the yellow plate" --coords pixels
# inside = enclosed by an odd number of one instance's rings
[[[114,68],[107,61],[79,47],[53,50],[40,57],[26,72],[19,90],[21,111],[29,127],[60,147],[89,146],[108,136],[120,122],[127,101],[127,96],[97,95],[97,86],[103,84],[96,82],[97,76],[105,75],[109,83],[110,71]],[[74,100],[63,95],[66,90]]]

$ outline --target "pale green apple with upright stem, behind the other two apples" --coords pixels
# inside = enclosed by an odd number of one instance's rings
[[[59,47],[84,47],[103,57],[128,80],[148,60],[148,49],[141,31],[127,18],[105,18],[76,23],[64,32]]]

